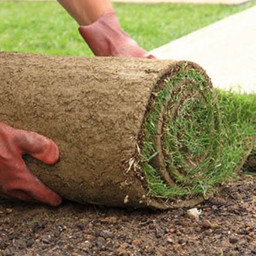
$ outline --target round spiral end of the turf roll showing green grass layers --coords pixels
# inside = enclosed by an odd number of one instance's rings
[[[218,103],[210,82],[184,65],[157,84],[150,102],[140,150],[149,194],[171,199],[206,192],[210,184],[204,179],[218,165],[220,150]]]

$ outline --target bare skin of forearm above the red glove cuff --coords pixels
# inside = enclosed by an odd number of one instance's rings
[[[107,12],[112,12],[110,0],[58,0],[80,26],[90,25]]]

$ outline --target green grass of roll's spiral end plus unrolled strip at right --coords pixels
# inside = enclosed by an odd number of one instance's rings
[[[190,81],[189,86],[182,86],[184,79]],[[166,79],[163,87],[152,93],[140,147],[148,194],[167,200],[206,196],[236,177],[252,152],[256,95],[218,90],[217,100],[204,76],[185,68]],[[162,153],[155,140],[162,114],[160,137],[168,179],[154,168],[154,159]],[[250,169],[256,167],[253,157],[248,158]]]

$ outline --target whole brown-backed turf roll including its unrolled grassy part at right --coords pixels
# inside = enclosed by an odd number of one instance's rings
[[[0,52],[1,121],[57,143],[54,166],[26,163],[81,203],[202,201],[244,165],[255,109],[255,95],[216,94],[192,62]]]

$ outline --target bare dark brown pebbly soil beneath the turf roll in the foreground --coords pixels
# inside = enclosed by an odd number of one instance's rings
[[[253,256],[256,177],[241,174],[220,195],[168,211],[113,209],[69,201],[58,208],[0,202],[0,255]]]

